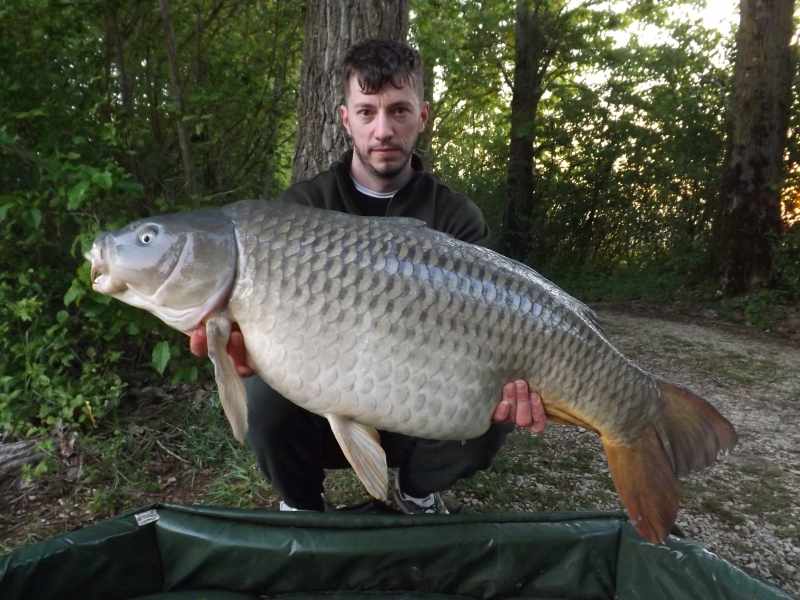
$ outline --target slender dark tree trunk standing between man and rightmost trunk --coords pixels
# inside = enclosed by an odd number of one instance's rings
[[[533,236],[533,158],[536,112],[542,83],[555,47],[544,35],[549,18],[543,2],[520,3],[515,34],[514,86],[511,98],[511,139],[508,145],[508,180],[503,215],[501,251],[524,261]]]

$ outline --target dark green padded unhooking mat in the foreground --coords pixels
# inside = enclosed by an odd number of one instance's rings
[[[158,504],[0,558],[0,598],[788,599],[622,513],[358,515]]]

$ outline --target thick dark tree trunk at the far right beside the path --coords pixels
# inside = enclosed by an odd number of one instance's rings
[[[712,267],[728,295],[772,278],[789,129],[794,0],[741,0]]]

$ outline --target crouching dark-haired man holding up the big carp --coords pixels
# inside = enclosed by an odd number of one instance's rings
[[[339,108],[353,149],[316,177],[293,185],[279,200],[364,216],[403,216],[473,244],[489,238],[480,210],[465,196],[422,170],[412,150],[428,120],[419,53],[390,41],[353,46],[344,60],[345,103]],[[241,334],[228,351],[246,377],[247,441],[281,495],[281,510],[325,509],[324,469],[349,466],[328,421],[307,412],[254,376]],[[206,354],[205,328],[192,352]],[[440,491],[486,469],[509,431],[505,423],[544,429],[541,399],[524,381],[507,384],[493,424],[482,436],[436,441],[380,432],[390,467],[398,467],[395,500],[407,513],[447,513]]]

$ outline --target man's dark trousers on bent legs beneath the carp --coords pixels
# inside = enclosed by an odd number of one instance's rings
[[[293,404],[258,376],[247,390],[247,443],[272,487],[293,508],[323,510],[324,469],[350,467],[328,420]],[[498,400],[499,401],[499,400]],[[487,469],[511,426],[492,425],[482,436],[438,441],[381,431],[389,467],[403,467],[404,493],[423,497]]]

